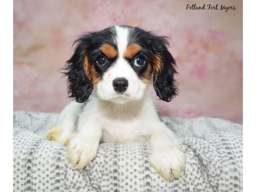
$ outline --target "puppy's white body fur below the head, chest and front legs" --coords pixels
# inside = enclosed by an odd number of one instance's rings
[[[152,154],[148,160],[154,169],[167,180],[178,178],[186,157],[180,151],[175,135],[157,116],[148,93],[145,92],[144,96],[124,104],[93,96],[81,111],[77,134],[67,146],[72,165],[77,169],[87,166],[96,156],[100,142],[145,142],[151,144]],[[70,116],[69,120],[65,119],[66,129],[68,124],[73,125],[76,115],[70,112],[78,110],[78,105],[71,102],[62,112]],[[64,119],[60,120],[59,125],[64,128]]]

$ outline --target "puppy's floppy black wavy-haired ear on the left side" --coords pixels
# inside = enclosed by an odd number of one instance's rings
[[[90,35],[84,35],[75,41],[76,49],[64,68],[68,81],[68,94],[76,102],[85,102],[93,90],[93,81],[85,73],[84,62],[88,54]]]

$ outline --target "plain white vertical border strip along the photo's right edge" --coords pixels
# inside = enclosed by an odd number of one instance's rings
[[[243,8],[243,188],[251,192],[256,189],[256,3],[244,0]]]

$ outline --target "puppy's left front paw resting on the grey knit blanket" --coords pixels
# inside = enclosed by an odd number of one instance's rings
[[[67,145],[67,158],[76,169],[84,169],[96,156],[99,140],[76,136]]]

